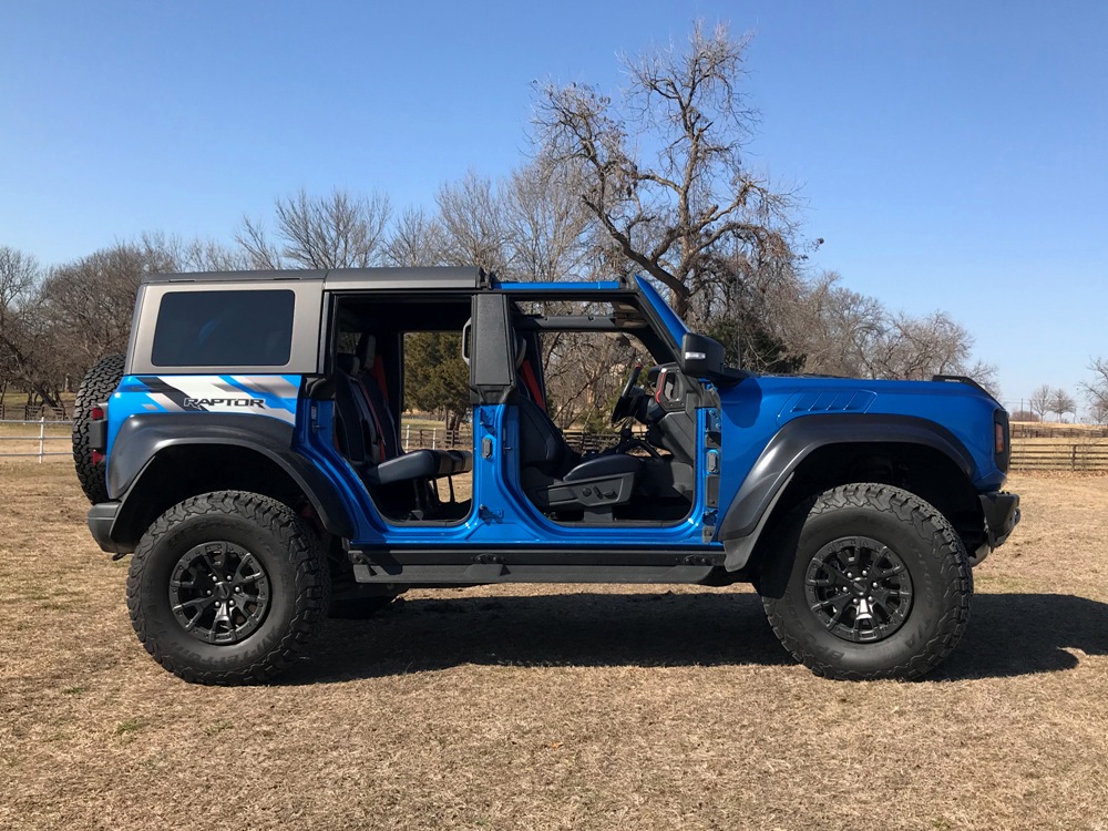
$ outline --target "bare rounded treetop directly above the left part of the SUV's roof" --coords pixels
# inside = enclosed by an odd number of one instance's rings
[[[309,196],[300,188],[274,203],[276,237],[243,217],[235,234],[255,268],[365,268],[380,259],[392,215],[388,196],[356,197],[335,189]]]

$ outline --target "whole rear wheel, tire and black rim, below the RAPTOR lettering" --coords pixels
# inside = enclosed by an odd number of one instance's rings
[[[174,505],[131,561],[127,607],[143,646],[199,684],[266,681],[327,614],[330,575],[287,505],[219,491]]]

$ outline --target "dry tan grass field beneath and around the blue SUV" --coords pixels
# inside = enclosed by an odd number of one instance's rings
[[[218,689],[138,646],[70,466],[0,460],[0,828],[1108,831],[1108,479],[1012,486],[919,683],[813,677],[746,589],[516,586]]]

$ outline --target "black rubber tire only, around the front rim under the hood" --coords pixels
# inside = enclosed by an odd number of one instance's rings
[[[814,588],[822,582],[811,576],[811,568],[823,552],[852,542],[864,547],[859,541],[888,546],[911,583],[904,617],[890,626],[892,634],[869,643],[833,634],[842,629],[828,609],[838,607],[813,604],[808,594],[822,591]],[[776,543],[776,556],[762,577],[762,604],[778,638],[815,675],[840,680],[919,678],[942,663],[965,630],[973,596],[965,547],[938,511],[907,491],[883,484],[827,491],[793,512]],[[859,591],[865,591],[864,585]]]

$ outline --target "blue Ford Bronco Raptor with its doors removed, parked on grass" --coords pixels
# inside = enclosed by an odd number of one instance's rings
[[[404,451],[414,332],[460,336],[472,447]],[[653,366],[603,452],[546,410],[566,332]],[[970,379],[759,377],[646,280],[478,268],[151,277],[126,356],[82,384],[74,456],[92,535],[132,554],[140,640],[203,684],[274,677],[343,605],[543,582],[750,582],[818,675],[914,678],[1019,519],[1007,413]]]

